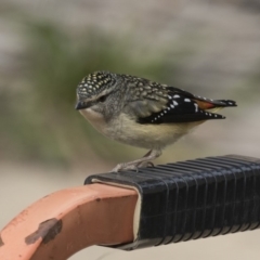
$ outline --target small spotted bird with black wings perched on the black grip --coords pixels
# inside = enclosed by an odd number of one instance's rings
[[[151,160],[214,112],[236,106],[231,100],[210,100],[148,79],[109,72],[86,76],[77,87],[78,109],[104,135],[147,148],[144,157],[117,165],[112,171],[153,166]]]

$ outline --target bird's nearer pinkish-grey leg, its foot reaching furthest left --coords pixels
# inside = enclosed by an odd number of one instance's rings
[[[153,165],[151,160],[154,160],[155,158],[159,157],[161,155],[160,150],[151,150],[147,154],[144,155],[144,157],[132,160],[129,162],[122,162],[118,164],[112,171],[118,172],[120,170],[133,170],[138,169],[139,167],[147,167],[148,165]]]

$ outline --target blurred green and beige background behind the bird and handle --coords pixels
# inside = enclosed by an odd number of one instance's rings
[[[158,164],[260,157],[259,28],[260,0],[1,0],[0,226],[46,194],[145,154],[102,136],[74,109],[78,82],[94,70],[237,101]],[[134,252],[91,247],[72,259],[253,260],[259,239],[255,231]]]

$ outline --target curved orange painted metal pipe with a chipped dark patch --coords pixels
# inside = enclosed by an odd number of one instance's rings
[[[15,217],[0,233],[1,260],[63,260],[91,245],[133,240],[138,193],[105,184],[55,192]]]

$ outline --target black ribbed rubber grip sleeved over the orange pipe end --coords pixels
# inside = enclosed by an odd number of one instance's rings
[[[158,246],[238,231],[260,221],[260,159],[226,155],[95,174],[99,180],[134,186],[141,196],[136,239],[117,248]],[[116,212],[115,212],[116,213]]]

